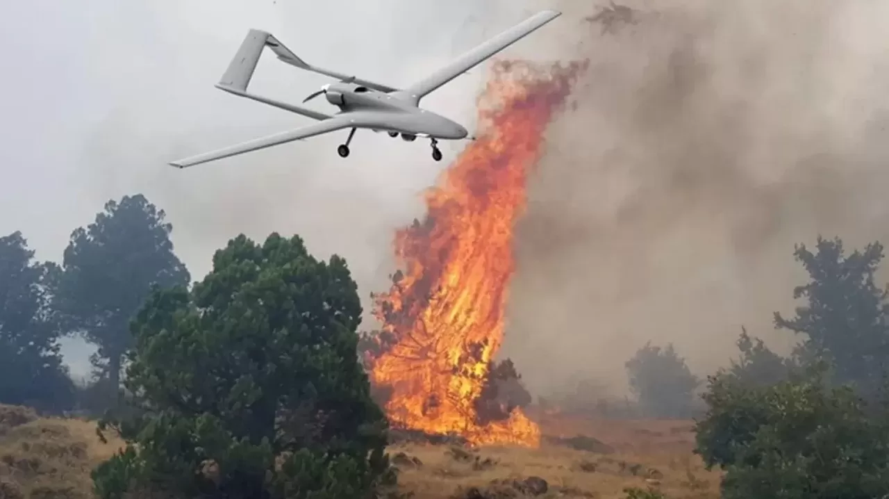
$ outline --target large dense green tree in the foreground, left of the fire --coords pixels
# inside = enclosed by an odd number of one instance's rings
[[[230,241],[190,292],[152,294],[124,381],[145,412],[116,425],[128,445],[94,473],[100,495],[361,498],[394,479],[356,288],[342,258],[272,234]]]

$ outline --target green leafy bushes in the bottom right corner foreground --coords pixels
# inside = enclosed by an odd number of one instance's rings
[[[697,449],[722,466],[725,499],[865,499],[889,494],[889,425],[847,387],[829,387],[824,367],[771,386],[709,378]]]

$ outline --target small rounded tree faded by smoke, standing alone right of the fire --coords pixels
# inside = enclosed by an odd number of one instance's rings
[[[637,350],[626,365],[629,388],[646,414],[687,417],[693,410],[694,390],[701,381],[685,365],[670,343],[666,348],[651,342]]]

